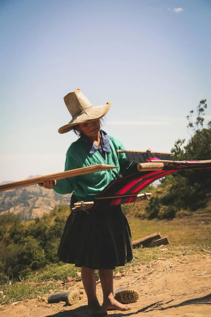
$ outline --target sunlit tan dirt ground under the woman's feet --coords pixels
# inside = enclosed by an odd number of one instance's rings
[[[204,272],[206,273],[199,275]],[[142,275],[144,278],[135,281]],[[186,257],[186,260],[178,258],[159,260],[133,268],[124,276],[115,277],[115,289],[128,285],[140,292],[139,300],[131,304],[130,311],[108,312],[110,317],[211,317],[211,256],[209,255]],[[102,302],[101,284],[98,283],[96,287],[98,299]],[[44,298],[47,299],[47,295]],[[47,304],[41,299],[33,299],[22,301],[17,305],[0,306],[0,316],[87,317],[86,302],[86,296],[74,306],[64,306],[64,303]]]

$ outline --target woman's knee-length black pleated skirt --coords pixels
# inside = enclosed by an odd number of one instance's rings
[[[77,202],[72,195],[71,206]],[[65,263],[92,269],[114,269],[133,259],[130,227],[121,205],[72,211],[57,256]]]

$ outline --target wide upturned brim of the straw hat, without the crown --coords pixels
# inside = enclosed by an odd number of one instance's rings
[[[80,123],[93,122],[97,119],[101,119],[108,111],[111,106],[111,102],[108,102],[106,105],[90,107],[86,109],[83,113],[78,114],[72,120],[61,126],[58,130],[59,133],[67,133],[72,130],[73,126],[76,126]]]

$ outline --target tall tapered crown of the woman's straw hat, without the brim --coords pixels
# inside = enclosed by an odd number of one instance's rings
[[[74,92],[67,94],[64,97],[65,105],[74,118],[79,113],[84,112],[86,109],[93,107],[90,101],[84,96],[79,88],[75,89]]]

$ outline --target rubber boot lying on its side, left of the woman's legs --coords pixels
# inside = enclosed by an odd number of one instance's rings
[[[48,303],[59,303],[65,301],[67,305],[77,304],[79,299],[84,298],[84,290],[76,289],[70,292],[59,292],[48,297]]]

